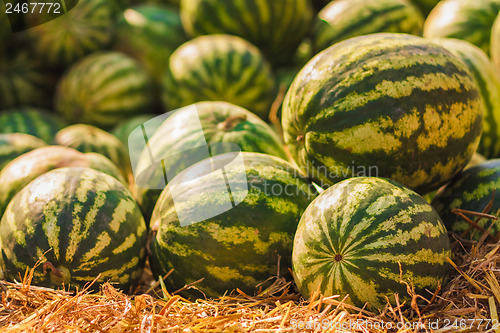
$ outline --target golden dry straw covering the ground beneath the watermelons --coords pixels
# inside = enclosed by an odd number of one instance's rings
[[[497,219],[487,212],[456,211],[472,222],[471,228],[481,217]],[[236,290],[215,300],[190,301],[179,291],[167,291],[148,269],[134,295],[109,283],[98,293],[89,288],[66,292],[36,287],[31,285],[31,269],[20,283],[0,283],[0,331],[500,333],[498,235],[484,230],[479,242],[463,236],[453,236],[455,255],[449,262],[454,273],[443,290],[418,295],[407,285],[412,301],[400,302],[395,295],[397,306],[388,303],[380,310],[356,308],[338,296],[319,293],[306,301],[291,281],[279,276],[256,296]],[[184,288],[196,288],[196,283]]]

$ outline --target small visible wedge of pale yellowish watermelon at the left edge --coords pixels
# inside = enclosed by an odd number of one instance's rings
[[[43,140],[29,134],[0,134],[0,171],[16,157],[46,145]]]

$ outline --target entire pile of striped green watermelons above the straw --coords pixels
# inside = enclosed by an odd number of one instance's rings
[[[499,240],[500,0],[0,9],[5,280],[380,308]]]

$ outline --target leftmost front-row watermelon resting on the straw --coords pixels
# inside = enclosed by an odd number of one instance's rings
[[[0,222],[0,263],[10,281],[45,258],[35,285],[82,288],[100,274],[98,282],[127,289],[141,275],[146,238],[141,211],[122,183],[93,169],[62,168],[12,199]]]

